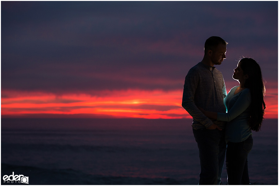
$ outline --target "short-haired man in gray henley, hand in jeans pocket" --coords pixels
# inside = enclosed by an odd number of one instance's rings
[[[184,83],[182,106],[193,117],[193,133],[199,148],[199,185],[219,185],[221,182],[227,147],[225,122],[210,120],[198,107],[212,112],[226,112],[224,78],[214,65],[220,65],[226,59],[227,44],[220,37],[208,38],[202,61],[189,70]]]

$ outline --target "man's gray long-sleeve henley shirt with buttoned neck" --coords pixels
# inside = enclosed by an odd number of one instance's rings
[[[213,123],[221,129],[225,128],[226,122],[206,117],[197,107],[226,113],[226,95],[223,75],[215,67],[200,62],[189,70],[184,83],[182,107],[193,117],[193,129],[208,128]]]

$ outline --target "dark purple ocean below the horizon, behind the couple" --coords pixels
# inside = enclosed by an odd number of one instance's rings
[[[2,118],[1,184],[197,185],[200,163],[191,123]],[[264,120],[253,139],[251,184],[278,185],[278,120]],[[4,175],[24,179],[4,182]],[[224,166],[222,184],[226,176]]]

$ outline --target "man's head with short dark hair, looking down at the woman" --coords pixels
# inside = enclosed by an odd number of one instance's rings
[[[206,40],[204,55],[210,60],[212,66],[221,64],[226,59],[227,44],[228,42],[217,36],[212,36]]]

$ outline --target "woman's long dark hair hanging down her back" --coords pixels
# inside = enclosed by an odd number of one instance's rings
[[[262,72],[259,64],[252,58],[243,58],[239,61],[239,65],[244,75],[248,75],[244,86],[250,89],[251,105],[250,105],[250,128],[258,132],[263,122],[263,114],[265,103],[263,97],[265,95],[265,87],[262,78]]]

